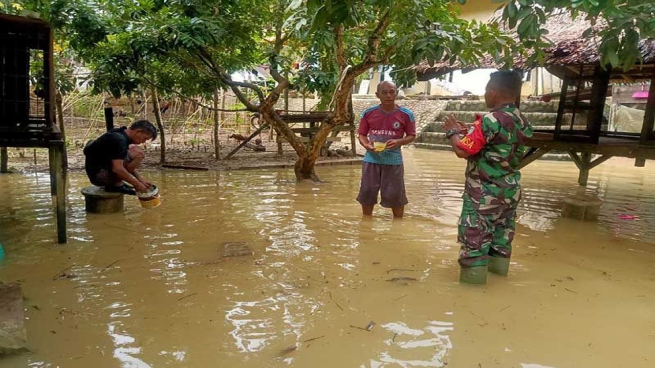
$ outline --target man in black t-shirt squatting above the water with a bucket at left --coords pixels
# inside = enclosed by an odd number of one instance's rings
[[[93,185],[105,187],[108,192],[134,195],[145,192],[151,183],[141,177],[136,168],[145,157],[140,144],[157,138],[157,128],[147,120],[133,122],[129,128],[112,129],[90,141],[84,147],[84,169]],[[134,189],[125,185],[130,183]]]

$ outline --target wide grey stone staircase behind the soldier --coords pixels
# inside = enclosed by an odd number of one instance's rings
[[[521,101],[521,113],[530,121],[535,130],[553,130],[555,128],[555,119],[557,119],[558,101]],[[429,122],[419,132],[415,140],[415,147],[426,149],[440,149],[452,151],[449,139],[445,138],[443,131],[443,120],[451,114],[455,119],[464,122],[472,122],[476,114],[484,115],[487,113],[485,101],[448,101],[445,109],[436,115],[434,122]],[[565,121],[571,120],[570,114],[565,114]],[[586,116],[576,115],[575,126],[582,128],[586,124]],[[548,153],[542,158],[546,160],[571,160],[565,152]]]

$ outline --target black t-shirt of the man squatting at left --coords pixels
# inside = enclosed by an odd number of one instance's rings
[[[94,175],[100,170],[111,171],[111,160],[125,160],[130,149],[130,138],[125,133],[127,128],[121,126],[109,130],[95,141],[84,147],[84,168],[86,173]]]

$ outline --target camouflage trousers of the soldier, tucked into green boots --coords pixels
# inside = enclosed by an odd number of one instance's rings
[[[457,232],[461,266],[484,266],[490,257],[512,255],[520,194],[515,197],[495,204],[479,204],[464,194]]]

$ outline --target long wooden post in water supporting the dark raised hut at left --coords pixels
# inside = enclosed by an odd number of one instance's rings
[[[66,183],[64,179],[64,142],[48,147],[50,158],[50,195],[57,218],[57,241],[67,242],[66,236]]]

